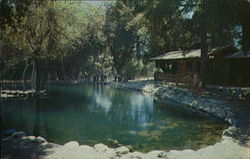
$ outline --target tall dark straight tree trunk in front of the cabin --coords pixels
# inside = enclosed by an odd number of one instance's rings
[[[203,16],[202,23],[200,25],[201,31],[201,86],[204,87],[207,83],[206,73],[207,73],[207,61],[208,61],[208,44],[207,44],[207,20]]]

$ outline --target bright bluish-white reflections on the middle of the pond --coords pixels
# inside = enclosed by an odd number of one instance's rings
[[[153,99],[136,92],[96,85],[93,101],[89,107],[101,108],[110,123],[124,124],[132,130],[140,129],[140,123],[150,122],[153,113]]]

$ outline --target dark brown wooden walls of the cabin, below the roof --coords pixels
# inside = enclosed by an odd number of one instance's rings
[[[168,70],[167,64],[173,64]],[[206,79],[209,84],[224,86],[250,86],[250,58],[248,59],[211,59]],[[200,59],[156,61],[156,67],[164,73],[199,73]]]

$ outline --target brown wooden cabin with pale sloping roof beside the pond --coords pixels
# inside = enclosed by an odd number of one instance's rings
[[[200,75],[201,50],[171,51],[150,61],[160,70],[155,80],[194,84]],[[213,49],[208,53],[206,72],[210,84],[250,86],[250,53],[230,46]]]

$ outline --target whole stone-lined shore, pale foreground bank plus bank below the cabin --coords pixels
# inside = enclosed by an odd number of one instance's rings
[[[193,111],[215,116],[230,123],[223,132],[222,139],[197,151],[171,150],[169,152],[153,150],[148,153],[130,152],[129,148],[121,146],[109,148],[104,144],[93,147],[79,145],[71,141],[65,145],[47,142],[42,137],[26,136],[23,132],[1,140],[1,158],[43,158],[43,159],[250,159],[250,140],[248,129],[241,132],[239,119],[226,101],[199,96],[188,90],[173,86],[160,85],[148,81],[131,81],[126,83],[110,82],[117,88],[133,89],[149,93],[166,102],[182,105]],[[240,138],[244,136],[243,143]],[[15,156],[16,155],[16,156]]]

